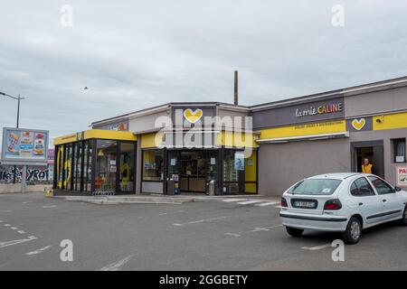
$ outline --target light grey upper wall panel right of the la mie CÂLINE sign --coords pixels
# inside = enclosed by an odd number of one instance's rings
[[[407,109],[407,88],[405,87],[345,97],[345,117],[404,109]]]

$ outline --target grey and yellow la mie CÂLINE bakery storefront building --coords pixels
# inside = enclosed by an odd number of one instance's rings
[[[55,139],[56,191],[170,193],[174,181],[181,193],[279,196],[311,175],[360,172],[364,158],[407,188],[407,78],[252,107],[169,103],[92,128]]]

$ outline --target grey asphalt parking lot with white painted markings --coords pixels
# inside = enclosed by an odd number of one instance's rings
[[[97,205],[0,195],[0,270],[407,270],[407,228],[364,231],[332,260],[336,234],[290,238],[273,202]],[[73,261],[62,262],[62,240]]]

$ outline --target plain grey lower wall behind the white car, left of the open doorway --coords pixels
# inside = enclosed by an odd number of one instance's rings
[[[262,195],[280,196],[294,182],[319,173],[349,171],[348,138],[260,145]]]

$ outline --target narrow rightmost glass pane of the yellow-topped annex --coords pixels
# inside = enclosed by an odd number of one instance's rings
[[[120,144],[120,170],[119,182],[120,191],[134,191],[135,185],[135,150],[136,144],[134,143],[121,143]]]

